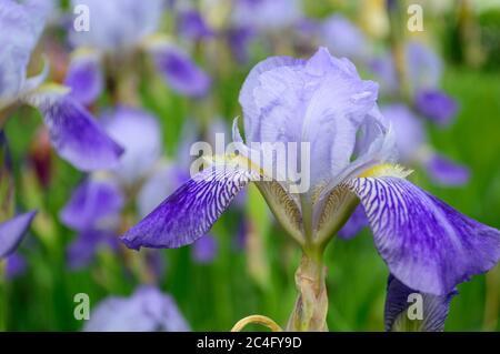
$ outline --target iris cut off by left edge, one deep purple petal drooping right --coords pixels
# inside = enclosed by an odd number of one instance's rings
[[[37,1],[0,2],[0,110],[18,102],[36,107],[61,158],[83,171],[108,168],[118,161],[122,149],[66,90],[40,87],[48,65],[39,75],[27,78],[28,62],[44,23],[40,8],[31,3]]]

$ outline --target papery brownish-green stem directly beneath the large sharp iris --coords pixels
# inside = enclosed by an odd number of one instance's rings
[[[299,291],[296,307],[287,325],[287,331],[323,332],[328,331],[328,296],[326,286],[327,269],[322,253],[302,254],[296,272],[296,285]]]

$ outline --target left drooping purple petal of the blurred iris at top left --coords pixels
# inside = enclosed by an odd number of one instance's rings
[[[104,79],[100,59],[96,53],[76,54],[70,62],[64,84],[81,104],[92,103],[102,92]]]

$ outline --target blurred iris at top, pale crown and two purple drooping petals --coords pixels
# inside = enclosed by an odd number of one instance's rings
[[[99,94],[97,89],[100,87],[102,60],[96,59],[104,55],[120,59],[139,50],[152,54],[158,71],[174,91],[196,98],[208,92],[208,74],[178,45],[158,33],[163,0],[73,0],[72,4],[89,8],[91,26],[89,31],[76,31],[71,28],[70,41],[76,48],[84,48],[87,52],[90,48],[94,51],[90,59],[82,60],[74,55],[71,62],[67,82],[77,97],[86,95],[84,99],[90,100]],[[193,24],[190,26],[192,30]],[[83,57],[89,57],[89,53]],[[89,63],[89,60],[93,62]],[[78,77],[73,78],[76,73]],[[83,88],[92,88],[93,91],[88,92]]]

